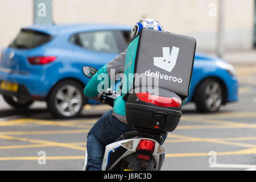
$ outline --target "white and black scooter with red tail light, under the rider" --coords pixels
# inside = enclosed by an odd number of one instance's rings
[[[91,78],[96,68],[83,67],[86,77]],[[113,107],[113,101],[120,93],[107,90],[101,94],[101,102]],[[160,116],[159,116],[160,115]],[[160,118],[161,114],[156,114]],[[156,121],[156,126],[160,124]],[[134,131],[122,134],[113,143],[105,148],[105,155],[102,161],[102,171],[159,171],[164,162],[165,152],[160,145],[163,143],[165,131],[152,130],[143,127],[133,126]],[[86,170],[87,152],[85,154],[84,166]]]

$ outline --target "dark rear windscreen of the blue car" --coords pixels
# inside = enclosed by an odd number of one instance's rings
[[[41,46],[52,39],[51,35],[34,30],[21,30],[9,47],[32,49]]]

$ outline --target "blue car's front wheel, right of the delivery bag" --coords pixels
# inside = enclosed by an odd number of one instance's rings
[[[203,113],[218,111],[223,100],[222,93],[222,86],[216,79],[208,78],[201,82],[194,97],[197,110]]]

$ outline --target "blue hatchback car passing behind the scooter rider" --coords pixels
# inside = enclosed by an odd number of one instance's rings
[[[89,78],[82,66],[100,69],[124,51],[129,26],[113,24],[63,24],[22,28],[0,57],[0,93],[15,108],[35,100],[46,101],[55,117],[80,114]],[[188,102],[214,112],[238,100],[238,82],[232,65],[217,57],[196,54]]]

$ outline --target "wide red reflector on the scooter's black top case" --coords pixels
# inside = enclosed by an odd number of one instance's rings
[[[137,97],[143,102],[148,102],[162,107],[179,107],[181,105],[181,100],[177,97],[168,98],[154,96],[147,92],[137,93]]]

